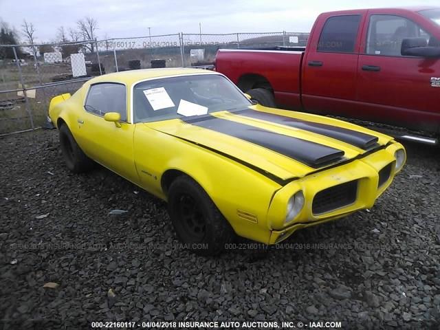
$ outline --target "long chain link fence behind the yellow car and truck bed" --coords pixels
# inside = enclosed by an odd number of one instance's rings
[[[0,45],[0,135],[43,126],[50,100],[101,74],[212,65],[220,48],[305,47],[295,32],[164,34],[76,43]]]

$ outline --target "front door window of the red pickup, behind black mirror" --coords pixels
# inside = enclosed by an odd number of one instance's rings
[[[404,17],[371,15],[366,37],[366,54],[401,56],[401,42],[406,38],[423,38],[428,45],[431,36]]]

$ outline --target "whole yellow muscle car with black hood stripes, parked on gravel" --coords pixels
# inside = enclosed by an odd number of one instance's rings
[[[234,233],[270,245],[371,208],[406,162],[392,137],[263,107],[201,69],[106,74],[49,112],[69,170],[97,162],[168,201],[177,237],[201,254]]]

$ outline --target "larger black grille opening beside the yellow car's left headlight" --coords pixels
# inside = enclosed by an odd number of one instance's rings
[[[314,197],[311,210],[314,214],[320,214],[342,208],[356,201],[358,195],[358,181],[350,181],[346,184],[338,184],[318,192]]]

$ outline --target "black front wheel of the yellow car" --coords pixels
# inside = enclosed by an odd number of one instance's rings
[[[201,255],[219,254],[232,241],[234,230],[205,190],[186,175],[168,190],[168,213],[177,238]]]

